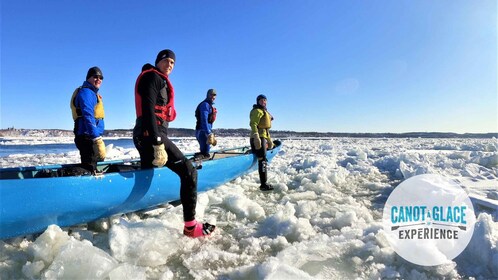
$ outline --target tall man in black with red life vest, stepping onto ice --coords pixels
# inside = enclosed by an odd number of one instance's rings
[[[197,170],[192,162],[168,138],[168,124],[176,118],[175,93],[169,74],[176,56],[171,50],[158,53],[155,66],[145,64],[135,84],[137,120],[133,142],[138,149],[142,169],[166,165],[180,177],[180,200],[189,237],[211,234],[215,226],[195,220],[197,204]]]

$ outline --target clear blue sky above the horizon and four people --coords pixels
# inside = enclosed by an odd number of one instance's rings
[[[218,92],[215,128],[497,132],[496,0],[2,1],[1,128],[72,129],[69,99],[104,73],[106,128],[135,121],[134,84],[162,49],[177,120]]]

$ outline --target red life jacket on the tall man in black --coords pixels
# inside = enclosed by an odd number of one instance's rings
[[[168,101],[166,104],[155,104],[154,105],[154,114],[156,115],[157,118],[157,124],[162,125],[163,122],[172,122],[176,118],[176,110],[175,110],[175,91],[173,89],[173,85],[168,79],[168,76],[164,75],[163,73],[157,71],[155,68],[151,68],[145,71],[142,71],[140,75],[137,78],[137,82],[135,83],[135,110],[137,112],[137,118],[142,116],[142,97],[138,93],[138,84],[140,82],[140,79],[142,76],[146,73],[149,72],[155,72],[158,74],[161,78],[163,78],[166,81],[166,84],[168,85]],[[158,99],[159,100],[159,99]]]

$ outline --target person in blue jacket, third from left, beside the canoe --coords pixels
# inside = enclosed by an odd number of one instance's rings
[[[199,142],[200,153],[196,153],[196,158],[209,158],[211,145],[216,146],[217,141],[213,133],[213,123],[216,120],[218,111],[213,106],[216,99],[216,90],[209,89],[204,99],[195,110],[195,137]]]

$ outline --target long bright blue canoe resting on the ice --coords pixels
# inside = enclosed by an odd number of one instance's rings
[[[282,143],[267,152],[271,160]],[[187,155],[192,156],[192,155]],[[139,161],[106,161],[101,175],[67,176],[76,165],[0,169],[0,239],[44,231],[134,212],[180,198],[180,179],[166,167],[140,170]],[[250,147],[214,151],[194,161],[197,191],[225,184],[257,169]]]

